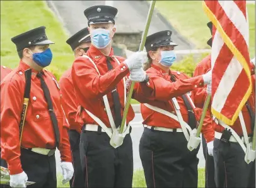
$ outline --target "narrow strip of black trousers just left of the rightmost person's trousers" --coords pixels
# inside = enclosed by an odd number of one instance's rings
[[[207,143],[204,136],[202,136],[202,150],[204,153],[204,159],[206,160],[205,187],[216,187],[214,180],[214,160],[213,157],[208,154]]]

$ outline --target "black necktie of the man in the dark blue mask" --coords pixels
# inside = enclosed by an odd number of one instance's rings
[[[50,119],[52,120],[52,124],[54,125],[56,145],[57,145],[57,147],[59,147],[59,139],[60,139],[59,138],[60,137],[59,136],[59,126],[58,126],[58,121],[57,121],[56,115],[54,113],[54,107],[52,106],[52,99],[50,99],[50,91],[43,79],[42,74],[38,73],[37,77],[40,79],[41,87],[44,91],[44,96],[45,96],[46,102],[48,104],[48,109],[49,109],[49,113],[50,113]]]

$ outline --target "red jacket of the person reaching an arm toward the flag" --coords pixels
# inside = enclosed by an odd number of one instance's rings
[[[176,97],[183,120],[188,123],[188,111],[185,103],[183,102],[182,95],[197,87],[204,86],[202,76],[189,79],[187,75],[173,70],[170,70],[169,74],[167,74],[156,65],[151,65],[151,68],[146,72],[149,76],[149,84],[147,84],[147,86],[151,88],[151,92],[149,93],[150,95],[143,92],[144,89],[142,88],[142,83],[137,83],[134,91],[134,99],[175,113],[171,99]],[[175,75],[177,78],[176,82],[172,82],[172,80],[170,80],[171,74]],[[194,93],[190,92],[190,94],[193,101]],[[165,128],[181,128],[180,123],[175,119],[153,111],[144,106],[144,104],[141,104],[141,114],[144,119],[143,124]]]

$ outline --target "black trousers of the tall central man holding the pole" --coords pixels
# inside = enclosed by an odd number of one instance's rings
[[[80,158],[84,187],[132,187],[132,140],[128,134],[118,148],[110,145],[107,133],[83,131]]]

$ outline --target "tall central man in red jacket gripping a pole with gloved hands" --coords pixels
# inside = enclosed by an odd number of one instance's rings
[[[142,68],[146,53],[136,52],[126,60],[113,54],[116,14],[117,9],[111,6],[93,6],[84,11],[91,46],[86,55],[76,58],[71,72],[80,106],[77,118],[83,124],[80,158],[86,172],[85,187],[132,187],[131,106],[122,145],[115,148],[110,140],[112,131],[118,130],[122,121],[125,76],[130,73],[134,81],[147,80]]]

